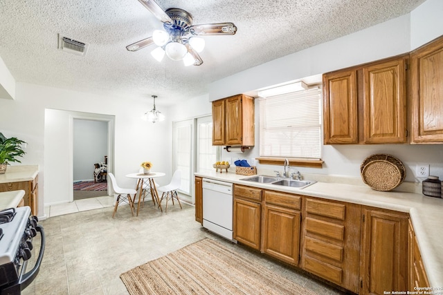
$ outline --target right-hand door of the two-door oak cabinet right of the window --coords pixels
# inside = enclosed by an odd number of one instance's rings
[[[406,59],[363,68],[363,122],[367,144],[406,142]]]

